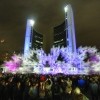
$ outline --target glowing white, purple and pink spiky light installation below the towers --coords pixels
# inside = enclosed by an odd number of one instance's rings
[[[33,49],[27,57],[14,55],[4,66],[5,72],[15,73],[99,74],[100,53],[95,47],[79,47],[77,53],[69,52],[68,48],[53,47],[48,55],[42,49]]]

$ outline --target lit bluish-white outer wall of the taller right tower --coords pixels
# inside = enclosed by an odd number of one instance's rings
[[[65,30],[66,30],[66,44],[70,52],[76,52],[76,37],[74,27],[74,17],[71,5],[65,8]]]

